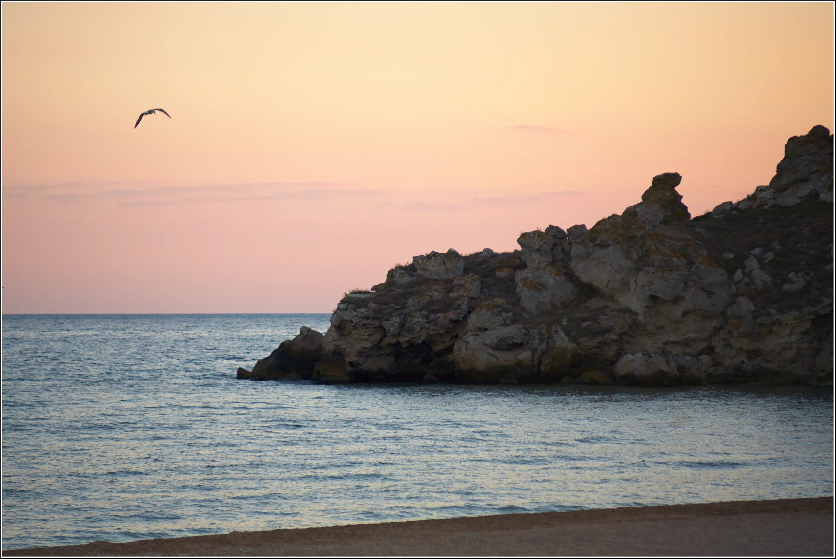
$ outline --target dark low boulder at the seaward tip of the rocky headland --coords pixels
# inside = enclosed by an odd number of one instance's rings
[[[299,333],[292,340],[285,340],[273,353],[260,359],[247,377],[238,378],[251,380],[282,379],[289,374],[298,374],[304,379],[310,379],[314,374],[314,365],[322,353],[323,335],[307,326],[299,328]]]

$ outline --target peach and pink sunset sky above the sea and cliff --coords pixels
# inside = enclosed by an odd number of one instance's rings
[[[3,313],[329,313],[833,130],[832,3],[2,10]]]

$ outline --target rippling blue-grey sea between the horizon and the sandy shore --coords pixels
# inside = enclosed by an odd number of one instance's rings
[[[3,317],[3,548],[833,495],[833,393],[239,381],[329,315]]]

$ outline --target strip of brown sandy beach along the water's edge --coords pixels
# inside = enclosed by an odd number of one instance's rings
[[[235,531],[3,555],[833,556],[833,497]]]

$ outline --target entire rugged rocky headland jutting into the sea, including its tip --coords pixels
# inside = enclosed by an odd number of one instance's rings
[[[691,219],[681,176],[587,230],[395,267],[239,378],[669,386],[833,382],[833,135]]]

